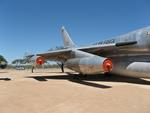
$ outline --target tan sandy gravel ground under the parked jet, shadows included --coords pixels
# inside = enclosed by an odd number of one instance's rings
[[[0,70],[0,113],[150,113],[150,80]]]

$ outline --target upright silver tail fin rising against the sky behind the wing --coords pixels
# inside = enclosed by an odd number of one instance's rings
[[[61,28],[61,34],[62,34],[62,37],[63,37],[65,47],[70,48],[70,47],[75,47],[76,46],[74,44],[74,42],[71,40],[71,38],[70,38],[69,34],[67,33],[64,26]]]

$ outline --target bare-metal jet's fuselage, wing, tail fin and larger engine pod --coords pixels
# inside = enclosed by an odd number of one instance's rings
[[[83,74],[114,73],[150,78],[150,27],[142,28],[90,46],[77,47],[64,27],[64,49],[37,54],[59,61]]]

